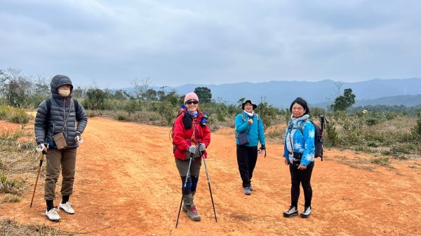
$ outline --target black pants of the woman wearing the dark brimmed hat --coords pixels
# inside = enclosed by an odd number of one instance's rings
[[[258,161],[258,146],[237,145],[236,149],[237,163],[239,164],[243,188],[250,187],[253,170]]]

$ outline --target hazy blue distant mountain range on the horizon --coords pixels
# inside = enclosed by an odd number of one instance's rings
[[[222,85],[186,84],[175,87],[180,94],[192,92],[196,87],[210,89],[213,99],[222,99],[236,104],[242,97],[250,97],[256,102],[265,99],[269,104],[286,108],[296,97],[303,97],[312,104],[326,108],[337,95],[338,81],[269,81],[261,83],[227,83]],[[340,82],[341,92],[351,88],[356,95],[354,106],[364,105],[405,105],[421,104],[421,78],[373,79],[361,82]]]

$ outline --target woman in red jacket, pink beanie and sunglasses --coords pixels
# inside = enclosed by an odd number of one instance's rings
[[[182,210],[186,211],[193,221],[200,221],[194,204],[197,181],[201,167],[201,155],[206,158],[206,148],[210,143],[210,129],[206,123],[207,118],[197,109],[199,97],[194,92],[185,96],[185,109],[182,115],[174,122],[174,157],[175,165],[182,181]],[[187,169],[190,158],[193,158],[186,182]]]

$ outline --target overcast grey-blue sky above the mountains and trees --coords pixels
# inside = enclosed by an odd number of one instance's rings
[[[0,0],[0,69],[75,85],[421,77],[421,1]]]

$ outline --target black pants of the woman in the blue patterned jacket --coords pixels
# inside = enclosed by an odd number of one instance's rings
[[[310,184],[314,162],[307,165],[307,169],[297,169],[293,165],[289,165],[291,174],[291,206],[297,207],[298,197],[300,197],[300,183],[304,191],[304,205],[310,207],[312,205],[313,190]]]

